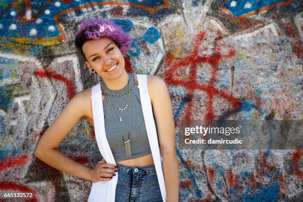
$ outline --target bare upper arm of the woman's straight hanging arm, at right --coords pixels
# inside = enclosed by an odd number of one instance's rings
[[[157,76],[148,76],[148,89],[162,155],[166,152],[175,152],[175,124],[166,84]]]

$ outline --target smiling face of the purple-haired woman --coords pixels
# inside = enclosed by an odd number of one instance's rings
[[[108,37],[87,41],[82,50],[88,68],[94,69],[103,80],[118,79],[125,73],[124,57],[113,40]]]

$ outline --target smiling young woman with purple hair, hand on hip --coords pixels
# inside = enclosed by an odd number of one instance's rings
[[[40,139],[35,155],[93,182],[89,202],[177,202],[178,162],[171,101],[164,81],[125,71],[131,39],[108,20],[84,20],[75,45],[102,82],[73,97]],[[104,158],[94,168],[56,150],[81,120],[95,127]]]

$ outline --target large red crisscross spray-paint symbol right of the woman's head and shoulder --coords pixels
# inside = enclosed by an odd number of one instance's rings
[[[221,35],[220,32],[217,33],[217,35]],[[206,55],[206,56],[200,56],[199,55],[199,46],[201,42],[205,38],[205,32],[199,33],[195,37],[194,41],[194,49],[192,50],[191,55],[182,57],[182,58],[177,58],[175,59],[174,56],[171,53],[167,53],[165,57],[165,64],[169,66],[165,72],[164,72],[164,79],[167,84],[169,85],[181,85],[185,87],[188,91],[188,95],[190,98],[193,98],[193,93],[195,90],[198,91],[203,91],[207,94],[207,113],[205,115],[206,120],[212,120],[214,118],[214,113],[213,113],[213,99],[214,96],[219,96],[227,101],[231,102],[234,108],[238,109],[241,106],[240,100],[233,97],[232,95],[229,95],[223,91],[220,91],[216,89],[214,82],[216,81],[216,75],[217,75],[217,67],[220,63],[220,61],[223,58],[230,58],[235,54],[235,50],[230,50],[227,55],[222,55],[219,51],[219,48],[215,48],[215,51],[212,55]],[[175,61],[173,62],[173,59]],[[202,85],[197,81],[197,68],[200,63],[208,63],[211,65],[212,70],[211,70],[211,79],[208,83],[208,85]],[[174,73],[179,70],[180,68],[184,66],[190,66],[190,75],[189,79],[182,81],[175,79]],[[183,117],[185,120],[190,120],[191,119],[191,113],[192,113],[192,103],[191,101],[188,103],[187,108],[186,108],[186,115]]]

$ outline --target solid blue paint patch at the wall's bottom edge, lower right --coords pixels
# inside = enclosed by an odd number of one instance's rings
[[[277,202],[279,200],[279,188],[278,183],[273,184],[270,187],[261,187],[256,194],[252,194],[251,189],[247,189],[244,193],[244,202]]]

